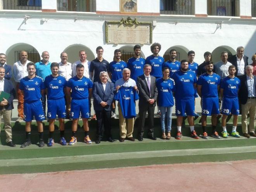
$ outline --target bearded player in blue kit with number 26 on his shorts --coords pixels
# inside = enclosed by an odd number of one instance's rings
[[[220,89],[220,76],[213,73],[213,62],[206,63],[206,73],[202,74],[197,80],[197,92],[202,99],[202,138],[208,139],[206,132],[206,118],[211,116],[213,131],[211,137],[220,138],[216,131],[217,115],[219,111],[218,91]]]

